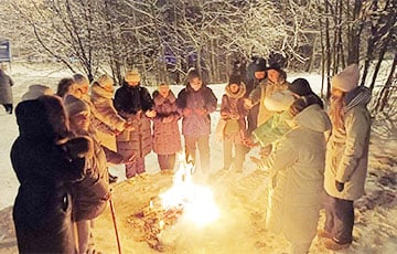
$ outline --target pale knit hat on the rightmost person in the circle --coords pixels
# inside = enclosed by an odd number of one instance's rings
[[[351,64],[345,70],[332,77],[332,88],[350,92],[357,87],[360,81],[360,68],[357,64]]]

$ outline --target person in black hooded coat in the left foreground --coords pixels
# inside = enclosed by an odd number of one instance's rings
[[[18,104],[11,162],[20,182],[13,205],[19,253],[75,253],[71,184],[84,176],[92,140],[69,138],[57,96]]]

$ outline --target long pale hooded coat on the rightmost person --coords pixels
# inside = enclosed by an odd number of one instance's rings
[[[326,193],[344,200],[356,200],[364,194],[368,165],[371,116],[366,105],[368,88],[358,86],[345,97],[344,128],[333,128],[326,145],[324,188]],[[344,183],[339,192],[335,180]]]

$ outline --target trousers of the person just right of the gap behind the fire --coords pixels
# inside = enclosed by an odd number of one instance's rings
[[[233,147],[235,157],[233,158]],[[232,140],[224,140],[224,169],[230,168],[232,161],[237,171],[243,170],[243,162],[245,158],[245,146],[242,144],[233,142]]]

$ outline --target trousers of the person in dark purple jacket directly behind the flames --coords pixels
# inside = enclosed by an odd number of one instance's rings
[[[186,161],[189,158],[195,162],[196,146],[200,154],[200,166],[203,172],[210,171],[210,135],[184,136]]]

